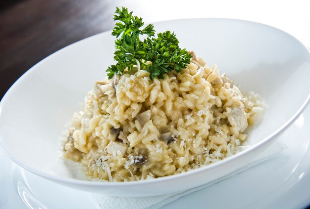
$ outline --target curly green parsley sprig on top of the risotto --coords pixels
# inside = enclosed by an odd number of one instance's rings
[[[115,13],[114,20],[119,22],[115,23],[112,35],[120,38],[115,41],[114,60],[117,63],[106,70],[109,79],[122,74],[126,68],[132,70],[134,65],[150,72],[151,80],[155,77],[163,79],[165,73],[172,70],[180,73],[190,63],[192,55],[179,47],[174,33],[158,33],[155,38],[154,26],[149,24],[141,30],[144,25],[142,18],[132,16],[127,8],[120,10],[116,7]],[[140,41],[141,35],[147,36],[143,42]],[[152,64],[147,64],[147,61]]]

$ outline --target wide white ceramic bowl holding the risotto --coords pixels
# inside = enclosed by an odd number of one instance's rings
[[[232,19],[155,23],[174,31],[181,47],[214,63],[245,91],[268,104],[249,134],[251,147],[189,172],[136,182],[83,181],[59,158],[60,135],[79,111],[87,91],[113,63],[110,32],[65,47],[27,71],[0,103],[0,146],[15,163],[56,183],[117,196],[149,196],[193,188],[242,167],[273,143],[301,114],[310,98],[309,49],[276,28]],[[293,139],[292,139],[293,140]],[[296,139],[294,139],[296,140]]]

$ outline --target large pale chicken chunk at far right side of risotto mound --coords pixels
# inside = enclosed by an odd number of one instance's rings
[[[239,106],[227,107],[226,114],[231,126],[237,127],[239,132],[248,127],[247,113]]]

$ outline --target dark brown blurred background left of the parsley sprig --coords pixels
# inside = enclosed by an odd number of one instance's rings
[[[12,0],[2,1],[0,6],[1,99],[43,58],[112,29],[116,4],[110,0]]]

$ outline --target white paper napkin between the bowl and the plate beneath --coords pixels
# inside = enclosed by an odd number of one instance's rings
[[[158,196],[150,196],[150,197],[116,197],[116,196],[108,196],[102,194],[93,194],[95,201],[98,204],[100,209],[159,209],[160,207],[184,196],[190,194],[192,192],[204,189],[214,183],[222,181],[224,179],[230,178],[250,167],[253,167],[263,161],[266,161],[282,150],[286,149],[287,146],[280,140],[273,143],[268,149],[258,155],[254,160],[250,163],[241,167],[230,174],[227,174],[221,178],[215,179],[207,184],[188,189],[182,192],[167,194],[167,195],[158,195]]]

